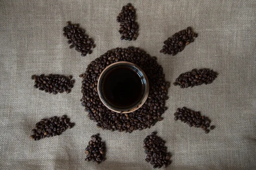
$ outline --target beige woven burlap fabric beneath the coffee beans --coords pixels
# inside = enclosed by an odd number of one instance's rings
[[[128,1],[0,1],[0,169],[151,170],[143,139],[153,131],[166,141],[173,163],[166,170],[256,169],[256,1],[130,1],[137,10],[139,36],[121,41],[116,16]],[[62,36],[66,21],[79,23],[93,38],[93,54],[81,57]],[[163,41],[191,26],[195,42],[175,57],[160,54]],[[154,127],[133,133],[98,129],[81,106],[81,79],[88,63],[109,49],[144,49],[163,66],[166,80],[193,68],[218,72],[210,85],[171,85],[168,110]],[[32,74],[73,75],[70,94],[33,88]],[[204,131],[174,121],[178,107],[201,111],[215,125]],[[29,139],[42,118],[67,114],[76,126],[61,136]],[[106,160],[85,162],[90,136],[100,133]],[[164,169],[164,168],[162,168]]]

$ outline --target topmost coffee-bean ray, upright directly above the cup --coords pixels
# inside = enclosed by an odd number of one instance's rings
[[[116,21],[120,23],[119,33],[122,35],[121,40],[131,41],[137,39],[138,24],[135,22],[135,9],[130,3],[122,7]]]

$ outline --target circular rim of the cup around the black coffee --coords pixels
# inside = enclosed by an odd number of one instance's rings
[[[132,65],[134,66],[136,69],[138,69],[142,75],[143,75],[143,78],[145,79],[145,90],[143,92],[143,98],[140,100],[140,102],[138,102],[134,107],[130,108],[129,110],[128,109],[117,109],[117,108],[111,108],[109,105],[107,105],[107,103],[102,99],[102,95],[103,93],[100,93],[100,88],[99,88],[99,84],[102,79],[102,76],[105,74],[113,67],[115,67],[116,65]],[[126,61],[120,61],[120,62],[115,62],[111,65],[108,65],[108,67],[106,67],[102,73],[100,74],[99,76],[99,79],[98,79],[98,83],[97,83],[97,92],[98,92],[98,95],[99,95],[99,99],[102,101],[103,105],[105,105],[108,109],[110,109],[111,111],[114,111],[116,113],[131,113],[133,111],[136,111],[137,109],[139,109],[145,102],[146,100],[148,99],[148,94],[149,94],[149,82],[148,82],[148,77],[146,76],[145,72],[136,64],[132,63],[132,62],[126,62]]]

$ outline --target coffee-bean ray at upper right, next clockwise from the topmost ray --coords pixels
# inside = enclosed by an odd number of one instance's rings
[[[194,42],[193,37],[198,37],[198,34],[195,34],[190,27],[176,32],[172,37],[163,42],[163,49],[160,50],[160,53],[172,54],[174,56],[182,51],[186,45],[189,45],[190,42]]]

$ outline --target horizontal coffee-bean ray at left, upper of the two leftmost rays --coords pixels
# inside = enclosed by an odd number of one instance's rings
[[[68,94],[74,84],[74,80],[71,80],[72,76],[65,77],[58,74],[33,75],[32,79],[35,80],[34,88],[52,94],[63,93],[64,91]]]

